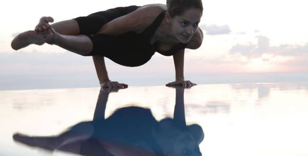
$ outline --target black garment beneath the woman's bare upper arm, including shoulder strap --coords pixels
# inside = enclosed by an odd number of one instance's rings
[[[164,19],[165,12],[162,11],[141,33],[130,31],[119,36],[106,34],[90,36],[93,50],[86,56],[102,55],[124,66],[140,66],[148,62],[155,52],[171,56],[185,49],[187,43],[178,43],[168,51],[158,51],[158,42],[151,45],[150,40]]]

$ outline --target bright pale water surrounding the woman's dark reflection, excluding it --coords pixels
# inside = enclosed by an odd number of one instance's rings
[[[13,141],[14,132],[57,135],[93,118],[100,88],[0,91],[0,155],[76,155],[49,152]],[[110,93],[105,116],[123,106],[172,117],[175,88],[129,87]],[[184,91],[187,123],[204,131],[203,155],[308,155],[308,83],[197,85]]]

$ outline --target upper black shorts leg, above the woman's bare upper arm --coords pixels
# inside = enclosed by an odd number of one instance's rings
[[[106,11],[95,12],[88,16],[77,17],[74,18],[74,20],[79,24],[80,34],[90,36],[97,33],[101,27],[109,21],[129,14],[139,7],[140,6],[118,7]]]

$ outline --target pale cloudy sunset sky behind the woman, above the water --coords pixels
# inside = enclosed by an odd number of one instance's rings
[[[33,85],[45,86],[43,83],[52,84],[46,87],[61,87],[66,86],[67,81],[71,83],[68,86],[98,84],[91,57],[78,56],[48,44],[29,46],[17,52],[11,49],[13,37],[33,30],[40,17],[52,16],[57,22],[114,7],[165,4],[165,1],[90,2],[30,0],[7,1],[2,5],[0,83],[6,87],[0,90],[35,88]],[[308,2],[300,0],[203,1],[199,27],[204,39],[199,49],[186,50],[185,79],[198,83],[229,83],[245,81],[247,75],[267,74],[272,75],[268,81],[275,81],[277,78],[273,77],[280,74],[285,80],[308,81],[306,6]],[[134,85],[164,85],[175,77],[172,57],[159,54],[137,68],[127,68],[108,59],[106,66],[112,80]],[[24,86],[18,87],[20,85]]]

